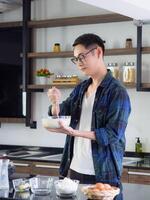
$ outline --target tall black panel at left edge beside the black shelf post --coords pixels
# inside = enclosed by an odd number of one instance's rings
[[[22,117],[22,30],[0,30],[0,117]]]

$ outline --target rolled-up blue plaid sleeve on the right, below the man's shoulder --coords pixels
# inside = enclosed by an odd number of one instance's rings
[[[130,99],[126,90],[117,90],[110,98],[105,127],[94,130],[96,141],[102,146],[116,143],[124,137],[131,112]]]

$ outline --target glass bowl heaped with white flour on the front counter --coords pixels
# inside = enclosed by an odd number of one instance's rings
[[[64,178],[61,180],[56,180],[54,182],[57,196],[63,198],[76,196],[78,185],[79,185],[78,180],[71,180],[70,178]]]

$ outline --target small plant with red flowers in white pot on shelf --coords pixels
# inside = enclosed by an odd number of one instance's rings
[[[53,74],[54,73],[51,73],[46,68],[41,68],[36,71],[36,76],[38,77],[40,84],[48,84],[49,78]]]

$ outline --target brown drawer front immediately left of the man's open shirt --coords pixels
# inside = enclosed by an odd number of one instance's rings
[[[58,163],[44,163],[34,162],[32,166],[33,175],[47,175],[47,176],[59,176],[59,164]]]

